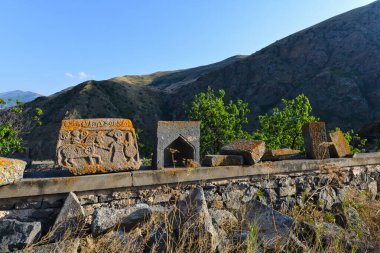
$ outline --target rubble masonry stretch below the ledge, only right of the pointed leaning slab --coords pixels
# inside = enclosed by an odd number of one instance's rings
[[[188,192],[201,186],[209,207],[237,211],[252,199],[273,205],[277,210],[289,210],[310,198],[321,208],[330,210],[334,203],[345,198],[348,188],[365,191],[376,197],[380,189],[380,165],[345,168],[328,167],[309,173],[253,176],[204,183],[178,184],[123,191],[78,193],[88,215],[99,207],[124,208],[145,203],[167,207]]]

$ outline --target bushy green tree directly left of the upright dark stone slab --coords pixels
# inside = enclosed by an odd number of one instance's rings
[[[272,114],[259,116],[260,126],[253,133],[254,139],[265,141],[267,149],[304,150],[302,126],[319,119],[311,115],[312,107],[304,94],[294,99],[281,101],[282,109],[275,107]]]

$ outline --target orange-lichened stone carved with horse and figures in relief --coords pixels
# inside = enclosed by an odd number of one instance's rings
[[[56,158],[75,175],[137,170],[141,166],[129,119],[63,120]]]

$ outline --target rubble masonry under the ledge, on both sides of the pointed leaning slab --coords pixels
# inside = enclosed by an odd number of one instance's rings
[[[213,168],[218,170],[218,168]],[[147,173],[147,172],[144,172]],[[197,173],[196,169],[188,173]],[[52,179],[54,180],[54,179]],[[336,202],[345,198],[347,189],[354,189],[376,197],[380,189],[380,164],[338,167],[326,165],[318,170],[291,173],[268,173],[238,178],[204,180],[186,183],[111,188],[75,192],[88,218],[95,209],[115,209],[146,203],[154,208],[167,208],[182,199],[191,189],[201,186],[210,208],[232,212],[244,208],[252,199],[273,206],[277,210],[289,210],[306,199],[330,210]],[[0,192],[1,195],[1,192]],[[2,198],[0,218],[22,221],[41,221],[46,230],[54,222],[67,193]]]

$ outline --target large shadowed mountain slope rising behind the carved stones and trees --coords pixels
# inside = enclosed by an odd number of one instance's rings
[[[130,118],[149,146],[155,122],[184,119],[183,104],[207,86],[224,89],[227,99],[249,102],[250,130],[257,126],[257,115],[270,112],[282,98],[304,93],[329,128],[365,129],[363,134],[376,136],[380,2],[328,19],[249,56],[192,69],[91,80],[38,98],[25,105],[45,112],[43,126],[30,127],[25,135],[29,155],[53,158],[61,120],[67,118]]]

